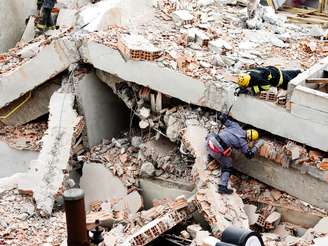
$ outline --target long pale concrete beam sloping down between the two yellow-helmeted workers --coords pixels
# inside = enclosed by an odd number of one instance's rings
[[[84,41],[80,51],[84,61],[123,80],[133,81],[187,103],[219,111],[228,109],[234,103],[231,115],[238,121],[328,151],[327,124],[301,118],[285,108],[255,97],[234,98],[233,85],[204,83],[178,71],[160,67],[154,62],[125,61],[117,50],[94,41]],[[253,108],[256,110],[249,110]]]

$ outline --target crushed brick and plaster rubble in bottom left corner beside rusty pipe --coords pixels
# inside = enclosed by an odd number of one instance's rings
[[[1,245],[60,245],[66,237],[63,211],[40,218],[32,199],[18,190],[5,191],[0,197]]]

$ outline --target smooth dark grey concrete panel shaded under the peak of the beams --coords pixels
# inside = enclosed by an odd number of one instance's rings
[[[78,90],[78,101],[85,116],[90,147],[99,144],[102,139],[111,139],[127,129],[130,123],[130,111],[94,72],[81,79]]]

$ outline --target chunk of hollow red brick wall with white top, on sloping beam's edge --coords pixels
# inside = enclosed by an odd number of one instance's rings
[[[131,60],[154,61],[162,55],[160,49],[139,35],[122,35],[117,48],[125,58]]]

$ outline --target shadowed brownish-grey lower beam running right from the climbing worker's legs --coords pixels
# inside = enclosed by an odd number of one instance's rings
[[[312,205],[328,208],[327,182],[263,158],[248,160],[236,153],[234,159],[234,167],[238,171]]]

